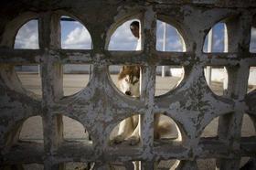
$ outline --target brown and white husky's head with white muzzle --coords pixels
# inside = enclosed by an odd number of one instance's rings
[[[140,95],[140,67],[123,66],[118,75],[119,89],[128,96]]]

